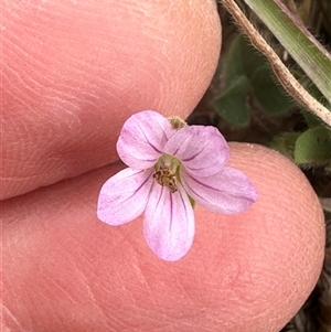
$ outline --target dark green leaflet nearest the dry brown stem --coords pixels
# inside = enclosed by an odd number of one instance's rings
[[[281,115],[293,107],[295,101],[277,82],[269,65],[257,68],[250,83],[254,97],[266,114]]]

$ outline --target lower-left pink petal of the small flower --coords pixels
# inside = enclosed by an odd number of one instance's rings
[[[152,170],[118,172],[100,190],[98,218],[113,226],[134,221],[143,213],[152,183]]]

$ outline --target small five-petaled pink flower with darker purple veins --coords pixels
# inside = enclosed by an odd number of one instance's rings
[[[166,260],[180,259],[192,246],[194,201],[235,214],[257,200],[249,179],[225,165],[229,149],[216,128],[178,124],[152,110],[125,122],[117,151],[128,168],[104,184],[97,208],[113,226],[145,214],[146,242]]]

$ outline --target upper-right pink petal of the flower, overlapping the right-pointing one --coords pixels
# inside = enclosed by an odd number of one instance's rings
[[[218,173],[229,156],[224,137],[214,127],[186,126],[167,142],[164,152],[179,158],[186,171],[196,176]]]

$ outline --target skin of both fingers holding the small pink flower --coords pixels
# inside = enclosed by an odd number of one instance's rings
[[[229,161],[258,201],[236,216],[196,206],[193,247],[177,263],[153,256],[142,218],[97,219],[100,186],[125,167],[115,150],[125,119],[185,117],[217,63],[213,1],[143,3],[4,2],[4,331],[276,332],[319,277],[319,201],[259,146],[232,143]]]

